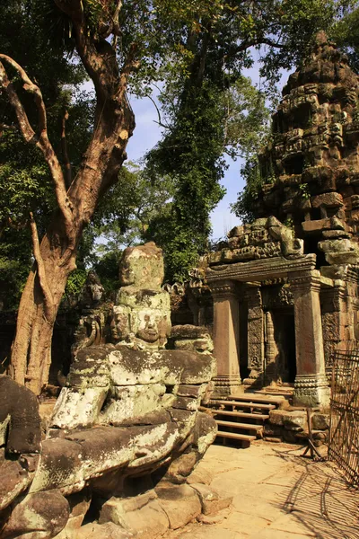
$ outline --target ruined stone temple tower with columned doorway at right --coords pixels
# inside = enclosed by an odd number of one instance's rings
[[[325,406],[333,354],[356,343],[358,82],[320,32],[285,85],[258,218],[208,257],[217,393],[290,382],[295,404]]]

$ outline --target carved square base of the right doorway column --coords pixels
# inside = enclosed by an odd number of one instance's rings
[[[298,375],[295,377],[293,405],[328,408],[330,389],[325,375]]]

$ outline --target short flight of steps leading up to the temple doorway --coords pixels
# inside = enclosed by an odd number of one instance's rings
[[[238,396],[215,398],[201,411],[214,416],[218,426],[217,440],[227,441],[249,447],[250,442],[262,437],[264,421],[269,411],[279,408],[285,402],[282,395],[266,393],[242,393]]]

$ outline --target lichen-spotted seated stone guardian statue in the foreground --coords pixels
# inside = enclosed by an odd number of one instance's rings
[[[112,342],[77,351],[31,482],[11,508],[4,501],[4,538],[49,539],[64,527],[58,539],[81,537],[91,499],[100,511],[99,539],[108,536],[102,526],[109,523],[122,530],[116,536],[132,536],[138,516],[129,524],[126,515],[132,513],[124,507],[134,507],[128,501],[134,494],[143,497],[138,510],[146,526],[147,515],[155,514],[168,527],[171,485],[188,496],[184,483],[215,439],[215,420],[199,411],[215,374],[208,336],[187,331],[185,345],[164,348],[171,317],[161,288],[162,251],[154,243],[128,248],[119,272]],[[51,510],[45,503],[49,492]],[[83,504],[82,512],[76,504]],[[196,493],[197,506],[200,511]]]

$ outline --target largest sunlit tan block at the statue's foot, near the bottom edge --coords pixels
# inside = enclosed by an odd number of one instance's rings
[[[136,537],[159,537],[169,527],[169,519],[154,490],[134,498],[111,498],[102,508],[99,524],[112,522]]]

